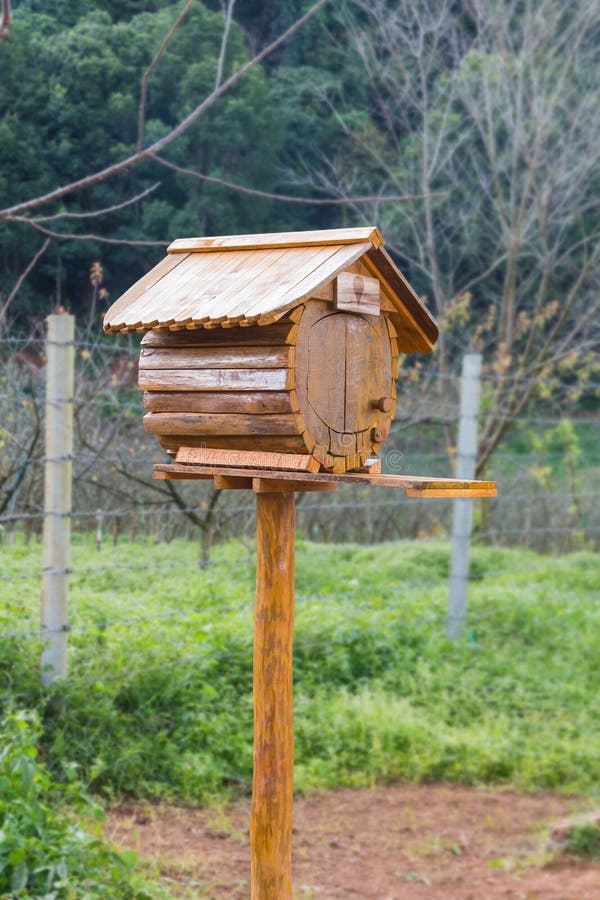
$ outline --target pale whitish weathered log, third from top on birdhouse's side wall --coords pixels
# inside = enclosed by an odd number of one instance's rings
[[[293,369],[141,369],[138,386],[147,391],[284,391]]]

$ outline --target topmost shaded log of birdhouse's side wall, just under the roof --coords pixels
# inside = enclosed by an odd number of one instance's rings
[[[194,328],[189,331],[149,331],[142,347],[276,347],[294,344],[298,326],[293,323],[247,328]]]

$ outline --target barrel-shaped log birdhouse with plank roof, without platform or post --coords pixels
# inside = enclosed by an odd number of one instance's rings
[[[176,240],[104,329],[146,332],[144,425],[167,450],[308,453],[335,473],[377,453],[398,353],[438,335],[377,228]]]

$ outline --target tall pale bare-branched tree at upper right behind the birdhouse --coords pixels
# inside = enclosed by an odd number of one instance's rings
[[[468,342],[484,350],[481,473],[540,385],[576,392],[597,365],[598,6],[359,0],[340,15],[369,115],[322,95],[352,153],[307,180],[422,196],[371,217],[441,320],[441,395]]]

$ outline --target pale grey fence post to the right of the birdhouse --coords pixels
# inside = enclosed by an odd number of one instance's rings
[[[460,422],[456,455],[457,478],[472,479],[475,477],[480,374],[481,354],[467,353],[463,358],[460,386]],[[467,616],[467,584],[472,519],[473,500],[470,498],[455,500],[447,622],[447,635],[451,640],[460,635]]]

